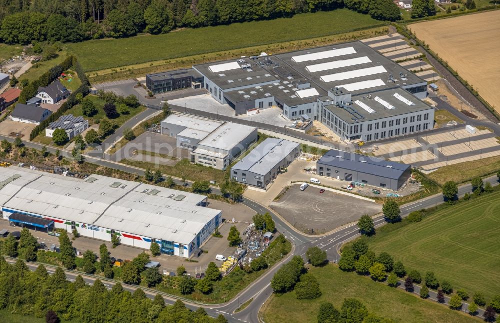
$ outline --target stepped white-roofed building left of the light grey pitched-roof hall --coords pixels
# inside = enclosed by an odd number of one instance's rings
[[[191,150],[191,162],[222,170],[257,141],[255,127],[175,113],[161,121],[161,133]]]

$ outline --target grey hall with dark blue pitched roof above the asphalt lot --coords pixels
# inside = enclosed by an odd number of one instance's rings
[[[317,163],[317,174],[397,191],[411,175],[411,165],[331,149]]]

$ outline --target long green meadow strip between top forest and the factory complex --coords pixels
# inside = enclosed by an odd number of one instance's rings
[[[200,53],[306,39],[383,24],[348,9],[215,27],[186,28],[161,35],[88,40],[67,44],[86,71]]]

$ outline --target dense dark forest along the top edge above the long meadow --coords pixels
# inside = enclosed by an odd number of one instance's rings
[[[77,42],[272,19],[338,7],[379,20],[400,18],[392,0],[0,0],[0,38],[7,44]]]

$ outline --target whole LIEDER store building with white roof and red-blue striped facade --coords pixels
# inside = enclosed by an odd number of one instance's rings
[[[1,218],[189,258],[222,220],[206,196],[92,174],[86,179],[0,168]]]

